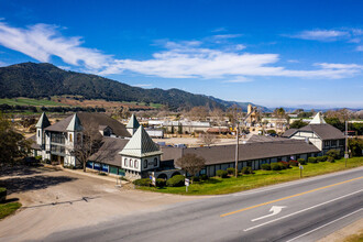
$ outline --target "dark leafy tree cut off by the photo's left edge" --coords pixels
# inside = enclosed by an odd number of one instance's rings
[[[31,141],[16,132],[13,124],[0,113],[0,167],[24,158],[31,148]]]

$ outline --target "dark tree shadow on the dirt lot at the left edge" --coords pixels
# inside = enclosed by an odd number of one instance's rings
[[[0,180],[0,186],[8,189],[8,195],[20,191],[44,189],[50,186],[55,186],[62,183],[68,183],[78,178],[68,176],[31,176],[31,177],[16,177]]]

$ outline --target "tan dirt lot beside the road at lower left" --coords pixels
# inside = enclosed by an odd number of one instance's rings
[[[113,182],[45,167],[9,170],[0,183],[7,184],[8,199],[19,198],[23,205],[0,221],[0,241],[40,240],[56,231],[197,199],[117,188]]]

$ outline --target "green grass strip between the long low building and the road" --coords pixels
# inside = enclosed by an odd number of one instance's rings
[[[336,163],[321,162],[317,164],[304,165],[302,176],[311,177],[327,173],[333,173],[348,168],[354,168],[363,165],[363,157],[353,157],[348,160],[348,167],[345,168],[345,161],[339,160]],[[298,167],[289,169],[273,172],[273,170],[255,170],[255,174],[243,175],[230,178],[212,177],[207,182],[191,184],[186,193],[185,187],[139,187],[142,190],[151,190],[166,194],[180,195],[222,195],[249,190],[252,188],[285,183],[300,178],[300,170]]]

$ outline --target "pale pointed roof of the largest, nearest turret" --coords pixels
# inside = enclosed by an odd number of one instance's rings
[[[128,155],[133,157],[146,157],[152,155],[160,155],[161,152],[154,141],[148,136],[147,132],[142,125],[120,152],[121,155]]]

